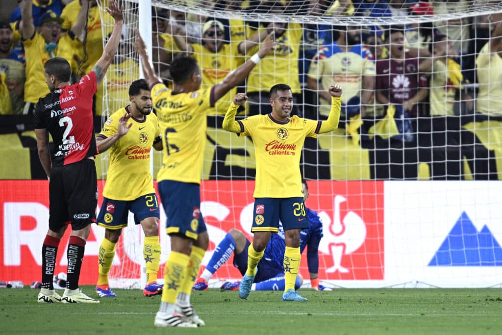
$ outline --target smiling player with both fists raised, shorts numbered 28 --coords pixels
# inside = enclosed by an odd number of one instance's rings
[[[270,89],[272,113],[235,121],[235,114],[247,96],[237,93],[226,112],[223,129],[239,136],[251,136],[256,150],[255,209],[253,211],[253,244],[247,250],[247,271],[239,285],[239,297],[249,296],[255,280],[258,262],[263,257],[271,233],[279,232],[279,220],[284,228],[285,288],[283,301],[306,301],[295,291],[300,267],[300,232],[309,228],[303,201],[300,155],[306,137],[330,132],[338,127],[342,89],[328,88],[331,111],[326,121],[290,117],[293,108],[291,87],[277,84]]]

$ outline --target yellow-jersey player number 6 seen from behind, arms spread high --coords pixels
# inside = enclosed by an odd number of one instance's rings
[[[201,89],[202,75],[195,59],[178,57],[171,64],[174,85],[170,90],[155,74],[145,42],[138,31],[137,34],[134,46],[140,55],[145,79],[152,87],[165,148],[157,181],[167,216],[166,231],[171,239],[161,306],[154,324],[203,326],[204,321],[190,304],[190,294],[209,244],[200,212],[199,186],[206,144],[206,109],[241,82],[272,50],[274,41],[270,34],[257,54],[210,88]]]

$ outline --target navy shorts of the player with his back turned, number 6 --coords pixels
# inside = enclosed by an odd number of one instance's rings
[[[174,180],[159,182],[159,194],[166,211],[167,234],[182,234],[197,240],[206,232],[204,217],[200,212],[200,185]]]

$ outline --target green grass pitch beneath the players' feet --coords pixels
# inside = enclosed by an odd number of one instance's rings
[[[93,287],[84,293],[95,296]],[[156,328],[160,297],[114,290],[99,304],[42,304],[38,290],[0,289],[2,334],[501,334],[500,289],[300,290],[308,302],[282,302],[281,292],[193,292],[206,326]],[[62,292],[60,292],[62,294]]]

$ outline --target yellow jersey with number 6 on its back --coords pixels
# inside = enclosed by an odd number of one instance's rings
[[[214,106],[213,89],[175,93],[162,83],[152,88],[164,154],[157,181],[200,184],[206,146],[206,109]]]

